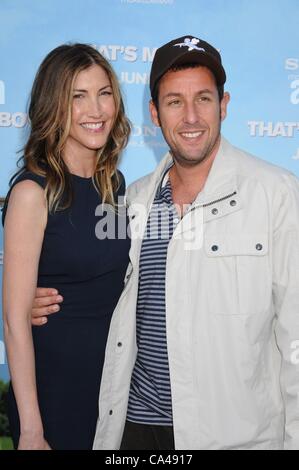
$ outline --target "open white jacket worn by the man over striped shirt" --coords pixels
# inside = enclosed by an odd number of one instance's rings
[[[133,235],[145,229],[170,158],[128,188]],[[190,249],[186,239],[201,233]],[[111,322],[95,449],[118,449],[124,429],[141,238],[132,240]],[[222,138],[204,191],[169,243],[166,322],[176,449],[299,449],[299,184],[292,174]]]

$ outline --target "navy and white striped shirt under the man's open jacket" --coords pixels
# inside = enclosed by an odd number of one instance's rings
[[[165,277],[169,241],[179,222],[168,170],[159,185],[142,241],[137,299],[137,359],[127,420],[172,425],[171,386],[166,341]],[[166,176],[165,176],[166,175]]]

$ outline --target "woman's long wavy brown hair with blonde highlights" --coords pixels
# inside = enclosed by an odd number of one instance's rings
[[[92,46],[65,44],[47,55],[36,74],[28,112],[30,135],[18,172],[46,177],[50,212],[66,209],[72,202],[71,178],[62,157],[71,127],[73,87],[78,74],[94,64],[108,75],[116,111],[109,138],[97,152],[93,183],[103,203],[116,205],[114,194],[120,185],[116,167],[130,135],[118,80],[108,61]]]

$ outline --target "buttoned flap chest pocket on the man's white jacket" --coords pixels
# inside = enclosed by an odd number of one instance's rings
[[[271,303],[269,239],[264,233],[219,234],[204,242],[208,266],[216,280],[210,301],[215,314],[253,315]]]

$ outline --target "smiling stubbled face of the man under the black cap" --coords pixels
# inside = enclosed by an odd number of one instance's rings
[[[214,75],[206,67],[168,71],[159,84],[159,110],[150,103],[174,159],[183,166],[213,158],[219,147],[228,93],[219,102]]]

